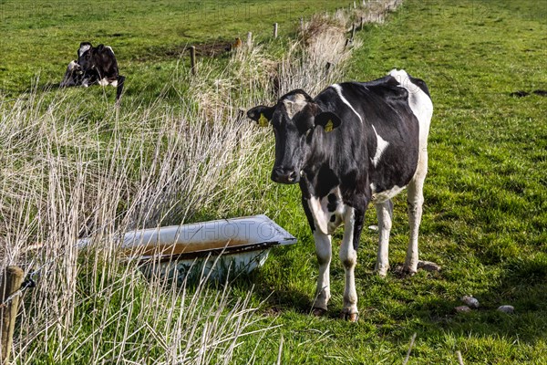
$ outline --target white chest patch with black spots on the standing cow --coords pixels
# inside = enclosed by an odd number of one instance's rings
[[[344,222],[346,204],[342,202],[342,194],[338,186],[323,198],[312,196],[307,203],[314,217],[315,229],[324,235],[332,235]]]

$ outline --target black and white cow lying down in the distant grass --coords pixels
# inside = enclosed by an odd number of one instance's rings
[[[77,50],[77,60],[68,64],[61,88],[70,86],[112,85],[118,88],[116,102],[119,103],[125,77],[119,75],[118,62],[111,47],[82,42]]]

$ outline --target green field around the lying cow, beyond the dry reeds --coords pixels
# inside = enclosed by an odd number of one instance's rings
[[[173,72],[171,64],[191,43],[231,42],[236,36],[245,40],[248,31],[261,39],[271,36],[275,22],[280,35],[286,35],[300,16],[335,6],[339,4],[332,0],[276,0],[267,5],[258,0],[2,1],[0,93],[18,95],[38,75],[42,85],[60,82],[81,41],[113,47],[122,74],[148,80],[128,78],[129,93],[161,89],[161,81]]]

